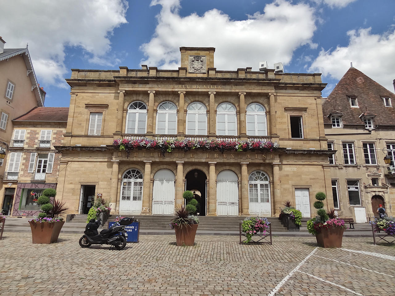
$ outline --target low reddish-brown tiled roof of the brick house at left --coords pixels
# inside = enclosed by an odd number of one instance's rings
[[[14,121],[67,122],[67,107],[36,107]]]

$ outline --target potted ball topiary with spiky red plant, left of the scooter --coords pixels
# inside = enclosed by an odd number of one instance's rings
[[[64,202],[54,200],[56,190],[47,188],[38,198],[37,203],[41,205],[41,213],[38,217],[29,220],[32,230],[33,244],[51,244],[58,241],[60,230],[64,224],[63,214],[68,210]]]

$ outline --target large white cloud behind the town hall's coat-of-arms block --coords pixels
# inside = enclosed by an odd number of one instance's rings
[[[295,49],[303,45],[314,48],[312,37],[316,30],[314,10],[304,3],[292,4],[275,0],[245,20],[235,21],[222,11],[212,9],[199,16],[179,15],[180,0],[152,0],[162,5],[157,15],[158,25],[151,40],[140,49],[148,66],[177,69],[180,65],[179,47],[215,47],[215,67],[235,70],[253,67],[267,60],[290,63]]]

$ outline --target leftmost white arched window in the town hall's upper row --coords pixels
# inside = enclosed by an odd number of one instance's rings
[[[127,134],[145,134],[147,127],[147,106],[135,101],[128,106],[126,117]]]

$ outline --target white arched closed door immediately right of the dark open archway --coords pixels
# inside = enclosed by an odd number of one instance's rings
[[[217,215],[239,215],[239,188],[237,175],[231,170],[223,170],[217,176]]]

